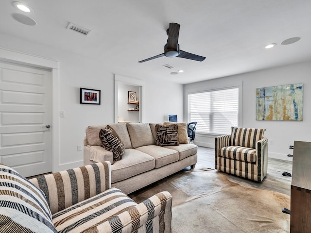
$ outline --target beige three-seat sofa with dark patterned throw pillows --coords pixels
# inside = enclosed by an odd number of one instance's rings
[[[88,126],[84,140],[84,165],[109,161],[112,186],[121,189],[125,194],[172,175],[187,166],[193,168],[197,162],[197,146],[186,143],[178,146],[156,146],[155,125],[155,123],[109,124],[124,144],[125,151],[120,161],[114,161],[112,152],[102,147],[99,131],[107,125]]]

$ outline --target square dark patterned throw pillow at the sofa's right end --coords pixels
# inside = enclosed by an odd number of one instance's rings
[[[157,146],[178,146],[178,125],[155,125]]]

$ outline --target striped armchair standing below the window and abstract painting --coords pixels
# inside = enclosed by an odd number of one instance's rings
[[[268,139],[265,129],[231,127],[231,134],[215,137],[215,169],[262,182],[267,175]]]

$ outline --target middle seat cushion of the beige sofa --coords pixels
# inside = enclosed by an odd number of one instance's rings
[[[168,165],[176,162],[179,159],[179,154],[176,150],[171,150],[155,145],[138,147],[136,150],[144,152],[155,158],[155,168]]]

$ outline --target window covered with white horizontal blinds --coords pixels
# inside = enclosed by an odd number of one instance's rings
[[[238,115],[238,87],[188,94],[188,119],[198,122],[197,133],[229,134]]]

